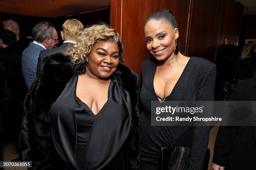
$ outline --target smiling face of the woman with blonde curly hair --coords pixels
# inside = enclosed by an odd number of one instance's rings
[[[94,78],[108,79],[119,64],[118,45],[110,41],[97,42],[90,52],[86,68]]]

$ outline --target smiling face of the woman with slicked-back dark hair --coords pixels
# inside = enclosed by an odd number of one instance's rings
[[[144,27],[147,49],[156,58],[156,60],[166,60],[174,55],[175,39],[179,37],[178,28],[172,25],[150,20]]]

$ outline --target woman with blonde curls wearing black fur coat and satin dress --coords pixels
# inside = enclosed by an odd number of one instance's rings
[[[93,25],[65,52],[70,58],[45,59],[21,132],[32,169],[138,168],[138,76],[122,64],[122,51],[116,30]]]

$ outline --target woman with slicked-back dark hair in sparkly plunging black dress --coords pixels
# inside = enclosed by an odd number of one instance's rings
[[[142,63],[141,170],[164,170],[170,166],[179,170],[201,170],[209,127],[195,126],[192,130],[188,126],[151,126],[151,101],[214,100],[215,65],[203,58],[186,57],[179,52],[179,30],[169,10],[151,14],[144,31],[146,48],[153,59]],[[178,146],[191,149],[190,158],[183,156],[189,161],[180,160],[182,163],[179,165],[169,165],[171,160],[167,157],[170,158],[172,153],[163,156],[163,149]]]

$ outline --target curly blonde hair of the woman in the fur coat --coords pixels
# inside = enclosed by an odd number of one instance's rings
[[[74,64],[85,62],[92,50],[92,47],[99,41],[110,41],[118,45],[119,60],[123,62],[123,47],[120,35],[116,30],[106,24],[92,25],[80,31],[77,35],[77,44],[70,47],[66,54],[71,57]]]

